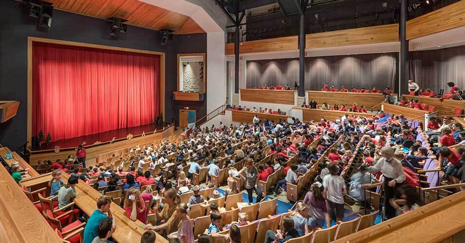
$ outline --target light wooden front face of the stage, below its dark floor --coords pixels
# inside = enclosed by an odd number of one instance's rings
[[[153,131],[147,131],[153,132]],[[115,150],[120,150],[120,149],[126,149],[131,146],[135,146],[137,144],[141,143],[149,143],[153,142],[155,140],[159,139],[164,139],[169,136],[174,134],[174,126],[170,126],[169,128],[165,129],[164,131],[159,131],[155,134],[146,134],[144,137],[137,137],[133,139],[123,139],[120,141],[115,141],[113,143],[105,143],[97,146],[88,146],[86,148],[87,156],[86,160],[90,160],[93,158],[97,158],[101,154],[106,154],[106,153],[111,153]],[[68,155],[75,156],[76,152],[74,149],[66,149],[66,150],[61,150],[58,153],[55,153],[54,151],[50,152],[45,152],[45,153],[39,153],[39,152],[31,152],[31,155],[29,156],[29,163],[32,165],[37,164],[38,160],[56,160],[56,159],[61,159],[61,161],[64,161]]]

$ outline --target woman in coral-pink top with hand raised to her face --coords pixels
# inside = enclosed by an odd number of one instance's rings
[[[138,188],[127,189],[123,206],[126,215],[132,221],[139,220],[145,224],[147,222],[147,210],[149,210],[145,205],[145,201],[150,199],[152,199],[152,195],[142,194]]]

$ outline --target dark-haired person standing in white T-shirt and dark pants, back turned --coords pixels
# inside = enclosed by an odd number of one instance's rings
[[[335,164],[328,164],[328,171],[330,174],[323,177],[323,197],[326,199],[329,214],[329,217],[326,217],[326,225],[330,226],[332,219],[338,222],[344,218],[344,196],[347,194],[347,187]]]

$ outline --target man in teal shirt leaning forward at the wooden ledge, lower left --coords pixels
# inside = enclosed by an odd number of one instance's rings
[[[111,205],[112,197],[110,196],[103,195],[97,199],[97,209],[93,211],[84,228],[84,243],[91,243],[98,236],[97,228],[102,220],[106,218],[113,220]]]

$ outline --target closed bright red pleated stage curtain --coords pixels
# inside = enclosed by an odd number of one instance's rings
[[[152,123],[159,80],[159,55],[34,43],[33,135],[56,141]]]

